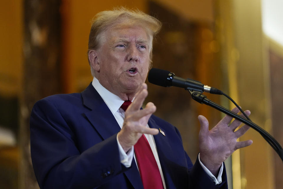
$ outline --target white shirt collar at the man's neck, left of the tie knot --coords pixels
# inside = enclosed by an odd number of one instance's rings
[[[92,86],[95,88],[95,90],[98,92],[98,94],[101,96],[103,101],[106,103],[106,105],[114,115],[119,110],[124,101],[119,96],[111,93],[106,88],[104,88],[95,77],[93,77]]]

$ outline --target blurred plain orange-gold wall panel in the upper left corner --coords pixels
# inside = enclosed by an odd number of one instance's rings
[[[17,96],[22,78],[22,1],[0,6],[0,94]]]

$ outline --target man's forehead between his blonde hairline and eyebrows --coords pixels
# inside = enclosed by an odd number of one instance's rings
[[[105,32],[105,37],[109,42],[134,40],[149,43],[147,31],[141,26],[111,27]]]

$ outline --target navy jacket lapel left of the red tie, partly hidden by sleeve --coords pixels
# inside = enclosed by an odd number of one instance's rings
[[[104,140],[121,130],[112,112],[92,84],[90,84],[81,94],[83,104],[91,109],[91,111],[85,113],[85,116]],[[124,172],[124,174],[135,189],[144,189],[134,159],[131,168]]]

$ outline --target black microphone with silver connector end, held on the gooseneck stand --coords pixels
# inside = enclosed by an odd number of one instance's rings
[[[180,78],[175,76],[175,74],[170,71],[160,70],[157,68],[152,68],[149,71],[148,81],[149,83],[162,87],[175,86],[185,88],[186,90],[198,91],[201,93],[207,92],[212,94],[223,94],[223,92],[218,90],[217,88],[204,85],[201,82],[190,78]]]

